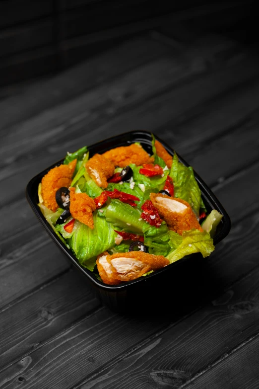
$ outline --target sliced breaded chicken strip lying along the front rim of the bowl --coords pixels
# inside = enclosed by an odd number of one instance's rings
[[[99,271],[100,268],[101,273]],[[113,255],[103,255],[97,262],[98,271],[104,283],[131,281],[150,270],[158,270],[169,264],[163,255],[148,254],[143,251],[130,251]],[[105,272],[105,274],[103,273]]]

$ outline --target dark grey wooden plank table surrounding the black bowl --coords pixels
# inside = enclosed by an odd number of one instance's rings
[[[188,39],[139,36],[1,91],[0,388],[259,388],[259,59]],[[188,160],[232,220],[207,259],[215,285],[184,315],[170,298],[163,316],[102,306],[25,199],[67,151],[133,129]]]

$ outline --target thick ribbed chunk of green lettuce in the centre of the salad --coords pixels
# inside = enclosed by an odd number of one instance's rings
[[[140,214],[136,207],[131,207],[129,204],[116,199],[111,201],[105,211],[107,222],[127,232],[142,234],[144,221],[140,218]]]

